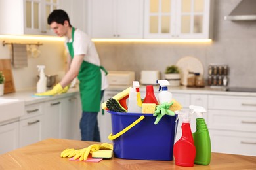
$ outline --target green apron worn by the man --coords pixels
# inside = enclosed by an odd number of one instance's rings
[[[72,27],[72,42],[67,42],[70,56],[74,58],[73,42],[74,42],[75,28]],[[101,71],[106,74],[106,70],[102,66],[94,65],[87,61],[81,64],[79,74],[77,76],[80,81],[80,97],[83,112],[99,112],[100,98],[101,98]]]

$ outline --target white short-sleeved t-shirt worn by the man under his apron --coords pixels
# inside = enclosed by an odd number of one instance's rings
[[[72,39],[68,41],[68,38],[65,39],[65,47],[67,52],[69,53],[67,42],[72,42]],[[74,42],[73,42],[73,50],[74,50],[74,56],[85,54],[85,57],[83,58],[84,61],[87,61],[88,63],[92,63],[94,65],[100,66],[100,58],[98,57],[98,52],[95,48],[95,44],[91,39],[88,37],[87,34],[85,34],[80,29],[75,29],[74,32]],[[108,87],[108,81],[106,79],[104,71],[101,71],[101,90],[105,90]]]

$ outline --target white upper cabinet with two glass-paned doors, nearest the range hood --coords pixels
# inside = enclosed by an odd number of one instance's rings
[[[211,0],[145,0],[144,38],[211,39]]]

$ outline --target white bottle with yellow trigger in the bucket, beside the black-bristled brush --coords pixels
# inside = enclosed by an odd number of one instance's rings
[[[140,93],[138,95],[138,92],[137,92],[137,89],[139,89],[139,86],[140,86],[139,82],[133,81],[133,87],[130,89],[130,92],[129,92],[128,112],[139,112],[139,113],[142,112],[141,98],[139,98]]]

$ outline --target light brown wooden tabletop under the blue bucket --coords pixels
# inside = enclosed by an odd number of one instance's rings
[[[180,167],[175,161],[125,160],[112,158],[99,163],[60,158],[65,148],[85,148],[95,142],[46,139],[0,155],[0,169],[256,169],[256,156],[212,153],[207,166]]]

